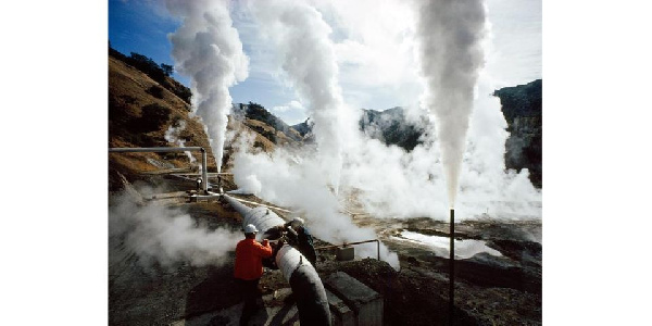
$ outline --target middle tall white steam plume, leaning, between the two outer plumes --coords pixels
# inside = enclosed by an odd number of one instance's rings
[[[305,1],[258,1],[252,9],[263,35],[275,46],[288,80],[308,103],[314,122],[318,155],[326,161],[321,173],[337,192],[342,165],[342,141],[351,121],[338,85],[333,32],[322,14]]]

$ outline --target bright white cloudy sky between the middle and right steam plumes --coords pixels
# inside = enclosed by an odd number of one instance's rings
[[[344,100],[375,110],[406,105],[422,92],[414,13],[404,1],[316,1],[334,28]]]

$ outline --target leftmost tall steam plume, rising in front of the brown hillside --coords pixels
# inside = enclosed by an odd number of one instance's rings
[[[233,27],[228,1],[167,0],[166,4],[173,15],[184,21],[170,35],[172,57],[176,68],[191,78],[192,110],[208,127],[221,172],[231,108],[228,88],[247,78],[249,58]]]

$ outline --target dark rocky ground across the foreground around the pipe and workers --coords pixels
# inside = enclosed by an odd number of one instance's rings
[[[171,180],[171,187],[192,184]],[[189,203],[162,197],[209,228],[240,229],[240,217],[220,202]],[[281,213],[281,212],[279,212]],[[280,214],[283,215],[283,213]],[[358,217],[361,225],[374,220]],[[385,325],[448,325],[449,264],[427,246],[401,240],[403,231],[447,235],[449,225],[429,218],[375,221],[379,239],[400,259],[400,271],[375,259],[338,262],[331,250],[318,252],[322,277],[341,271],[379,292],[385,300]],[[478,253],[455,260],[455,325],[541,324],[541,223],[467,221],[455,226],[459,239],[482,240],[502,255]],[[120,238],[109,239],[110,325],[236,325],[241,302],[233,275],[235,253],[220,266],[176,263],[143,264]],[[317,240],[316,247],[328,244]],[[291,292],[279,271],[261,279],[267,325],[298,324]],[[286,311],[284,311],[286,310]],[[283,313],[283,314],[280,314]],[[267,321],[267,322],[265,322]]]

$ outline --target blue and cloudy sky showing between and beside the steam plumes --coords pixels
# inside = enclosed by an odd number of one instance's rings
[[[412,20],[405,8],[391,1],[313,1],[331,26],[344,101],[353,108],[385,110],[414,105],[423,92],[412,58]],[[369,4],[373,14],[368,14]],[[492,26],[486,74],[496,88],[541,78],[541,0],[487,0]],[[236,5],[231,13],[243,50],[249,77],[229,91],[234,102],[258,102],[288,124],[306,117],[304,104],[285,82],[274,49],[260,36],[255,21]],[[167,34],[180,21],[164,1],[109,0],[109,40],[116,50],[137,52],[158,63],[174,64]],[[174,77],[189,86],[187,77]]]

